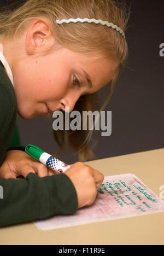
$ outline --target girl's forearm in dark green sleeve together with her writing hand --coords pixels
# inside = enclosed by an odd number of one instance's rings
[[[77,162],[65,173],[40,178],[28,174],[25,180],[0,179],[0,227],[49,218],[58,214],[74,214],[78,208],[90,206],[104,176],[90,166]]]

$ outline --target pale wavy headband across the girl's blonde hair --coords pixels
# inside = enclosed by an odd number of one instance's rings
[[[123,30],[121,30],[120,27],[118,27],[117,25],[114,25],[113,23],[109,23],[108,21],[102,21],[102,20],[95,20],[95,19],[69,19],[69,20],[56,20],[57,24],[58,25],[61,25],[63,23],[70,23],[70,22],[73,22],[73,23],[77,23],[77,22],[81,22],[81,23],[84,23],[84,22],[88,22],[88,23],[95,23],[95,24],[101,24],[101,25],[106,25],[107,27],[112,27],[114,30],[118,31],[124,38],[125,38],[125,33]]]

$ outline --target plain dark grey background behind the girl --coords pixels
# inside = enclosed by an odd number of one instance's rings
[[[164,146],[164,57],[159,55],[159,46],[164,43],[164,1],[126,2],[131,4],[131,18],[126,31],[129,57],[106,108],[112,111],[112,135],[102,137],[93,151],[96,159]],[[101,90],[102,102],[108,93],[109,86]],[[18,116],[22,144],[35,144],[50,154],[56,153],[58,146],[52,136],[52,121],[47,117],[23,120]],[[94,137],[97,136],[95,134]],[[69,151],[63,152],[60,159],[72,164],[78,156]]]

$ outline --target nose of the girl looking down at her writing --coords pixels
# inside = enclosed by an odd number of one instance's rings
[[[69,107],[69,112],[72,112],[75,106],[75,103],[79,100],[79,93],[78,94],[69,94],[65,98],[62,98],[60,101],[62,105],[62,110],[66,110],[66,107]]]

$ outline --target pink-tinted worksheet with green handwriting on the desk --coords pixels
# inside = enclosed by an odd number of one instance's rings
[[[92,206],[34,223],[40,230],[51,230],[164,212],[164,202],[133,174],[107,176],[101,188],[104,194],[98,193]]]

